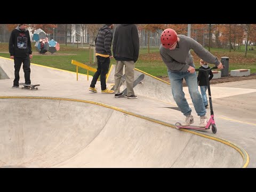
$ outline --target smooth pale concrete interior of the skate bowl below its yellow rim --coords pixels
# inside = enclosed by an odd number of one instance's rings
[[[243,167],[241,151],[92,101],[0,99],[0,167]]]

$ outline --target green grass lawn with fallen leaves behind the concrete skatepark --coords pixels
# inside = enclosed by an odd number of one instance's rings
[[[81,46],[80,44],[78,46]],[[88,45],[84,45],[88,46]],[[34,43],[32,45],[33,52],[37,52],[34,47]],[[251,46],[249,46],[251,48]],[[207,47],[206,47],[207,49]],[[254,48],[256,49],[256,47]],[[1,53],[7,52],[7,53]],[[0,56],[10,58],[10,54],[8,53],[8,43],[0,43]],[[193,52],[193,51],[192,51]],[[251,73],[256,73],[256,51],[248,51],[247,57],[244,58],[244,46],[241,47],[241,50],[236,50],[235,52],[231,50],[229,53],[229,49],[213,49],[211,48],[211,53],[216,55],[216,57],[220,58],[223,56],[227,56],[230,58],[229,70],[246,68],[251,69]],[[76,71],[76,66],[71,64],[71,60],[76,60],[86,65],[89,65],[93,68],[97,68],[97,63],[90,64],[89,57],[89,49],[78,48],[77,44],[65,44],[60,45],[60,51],[51,55],[49,52],[46,52],[47,55],[38,55],[34,54],[31,59],[32,63],[37,63],[39,65],[49,66],[53,68],[59,68],[63,70]],[[50,54],[50,55],[49,55]],[[60,54],[60,55],[58,55]],[[69,54],[69,55],[61,55],[61,54]],[[148,54],[147,48],[143,48],[140,50],[140,55]],[[146,57],[139,57],[139,60],[135,63],[135,68],[138,68],[142,71],[145,71],[148,74],[154,75],[156,77],[166,77],[167,76],[167,68],[164,62],[159,57],[159,47],[150,47],[150,54],[146,55]],[[93,49],[91,49],[91,60],[93,61]],[[199,67],[199,59],[194,57],[196,68]],[[235,61],[235,62],[234,62]],[[115,64],[115,59],[111,59],[110,65]],[[87,70],[79,68],[79,73],[87,74]],[[89,72],[89,75],[93,75],[94,73]]]

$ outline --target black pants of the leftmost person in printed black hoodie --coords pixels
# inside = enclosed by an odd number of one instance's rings
[[[26,58],[19,58],[19,57],[14,57],[14,81],[13,85],[14,86],[19,86],[19,80],[20,80],[20,67],[21,63],[23,62],[23,71],[25,74],[25,83],[26,84],[31,84],[30,81],[30,58],[29,56]]]

